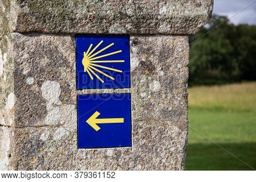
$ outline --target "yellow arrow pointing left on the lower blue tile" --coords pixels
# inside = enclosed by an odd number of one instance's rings
[[[87,119],[86,123],[93,127],[94,130],[98,131],[101,128],[96,124],[102,123],[123,123],[123,118],[106,118],[106,119],[96,119],[101,113],[96,111],[89,119]]]

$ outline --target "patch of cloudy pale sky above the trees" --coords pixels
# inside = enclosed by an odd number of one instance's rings
[[[213,14],[228,16],[233,24],[255,25],[256,0],[214,0]]]

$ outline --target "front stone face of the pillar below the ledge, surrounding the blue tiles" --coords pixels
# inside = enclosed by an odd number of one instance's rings
[[[10,126],[0,127],[1,138],[13,130],[10,144],[0,144],[2,168],[185,168],[187,36],[131,36],[131,89],[106,90],[76,90],[72,36],[14,33],[13,39],[15,114]],[[132,94],[132,148],[77,149],[81,93]]]

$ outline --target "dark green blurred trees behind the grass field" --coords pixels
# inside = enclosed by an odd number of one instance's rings
[[[256,80],[256,26],[213,15],[189,43],[189,86]]]

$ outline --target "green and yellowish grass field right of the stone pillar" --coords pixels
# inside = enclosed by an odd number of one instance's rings
[[[188,89],[187,170],[256,168],[256,82]]]

